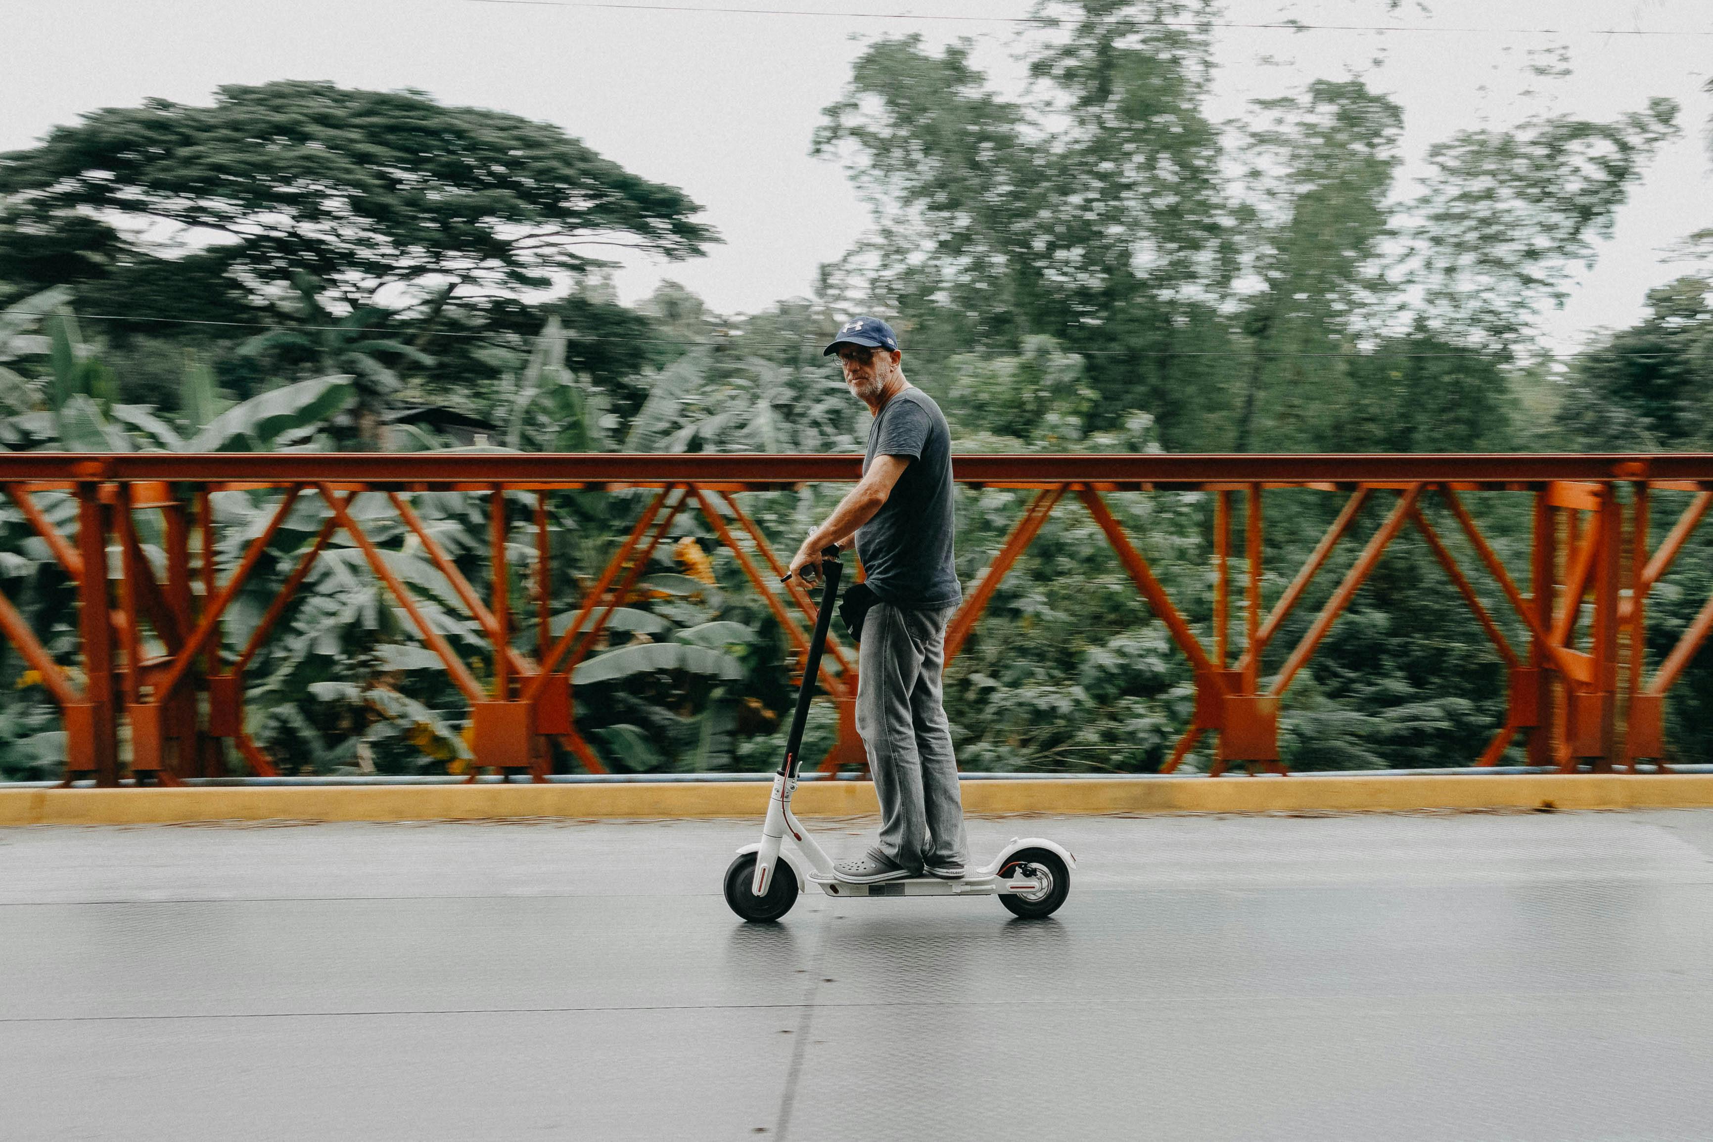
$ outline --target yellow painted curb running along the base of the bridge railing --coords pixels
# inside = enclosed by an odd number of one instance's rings
[[[1704,808],[1713,774],[1447,777],[1156,777],[968,781],[971,813],[1276,813],[1430,808]],[[3,789],[0,825],[199,820],[486,820],[497,817],[761,817],[762,782],[476,786],[221,786]],[[877,812],[865,781],[809,782],[803,817]]]

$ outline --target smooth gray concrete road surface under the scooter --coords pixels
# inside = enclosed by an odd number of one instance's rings
[[[0,829],[0,1137],[1713,1137],[1713,812],[973,822],[1036,923],[755,832]]]

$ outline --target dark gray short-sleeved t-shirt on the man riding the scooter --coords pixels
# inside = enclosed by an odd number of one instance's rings
[[[882,603],[952,606],[963,598],[952,563],[952,433],[934,397],[904,389],[868,426],[867,473],[877,455],[910,457],[892,495],[856,531],[856,555]]]

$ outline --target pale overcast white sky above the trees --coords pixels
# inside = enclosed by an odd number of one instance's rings
[[[207,103],[221,84],[415,87],[558,123],[629,170],[682,187],[723,245],[695,262],[627,264],[615,274],[620,296],[636,301],[673,279],[716,312],[755,312],[807,296],[817,267],[868,224],[839,164],[810,156],[821,110],[839,96],[865,43],[920,33],[935,48],[971,38],[978,65],[1014,91],[1019,24],[1007,21],[1033,7],[654,0],[654,9],[620,10],[632,2],[642,0],[0,0],[0,151],[146,96]],[[675,2],[774,12],[666,10]],[[1713,226],[1713,96],[1703,91],[1713,74],[1713,0],[1228,0],[1223,19],[1396,27],[1221,27],[1209,113],[1238,118],[1250,99],[1362,75],[1405,110],[1406,178],[1424,170],[1429,146],[1459,128],[1538,113],[1610,118],[1650,96],[1677,99],[1684,135],[1632,190],[1567,305],[1540,318],[1559,351],[1638,320],[1646,289],[1682,272],[1667,260],[1670,247]],[[1610,29],[1650,34],[1595,34]],[[1555,53],[1569,75],[1531,74],[1559,62]]]

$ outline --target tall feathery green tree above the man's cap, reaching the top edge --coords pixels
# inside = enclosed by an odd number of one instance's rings
[[[821,154],[850,161],[875,236],[827,288],[899,313],[934,356],[1045,334],[1088,354],[1096,426],[1148,407],[1168,438],[1227,349],[1230,281],[1204,0],[1048,5],[1031,99],[1011,101],[920,38],[884,39],[826,110]],[[1189,24],[1189,26],[1185,26]]]

